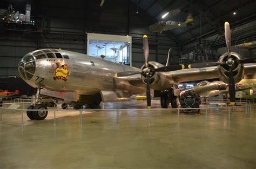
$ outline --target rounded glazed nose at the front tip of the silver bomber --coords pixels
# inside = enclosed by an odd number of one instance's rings
[[[35,58],[31,54],[25,55],[18,64],[19,75],[23,78],[23,80],[30,80],[35,74],[35,71]]]

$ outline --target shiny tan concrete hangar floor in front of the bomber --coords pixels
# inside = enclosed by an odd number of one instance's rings
[[[101,104],[104,109],[143,109],[146,103]],[[99,107],[99,108],[100,108]],[[159,108],[158,101],[152,107]],[[255,168],[256,110],[207,114],[177,111],[53,112],[46,120],[4,110],[0,121],[0,168]]]

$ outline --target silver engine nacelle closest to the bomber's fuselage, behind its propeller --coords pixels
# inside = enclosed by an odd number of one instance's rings
[[[149,68],[156,69],[159,67],[163,67],[164,65],[157,63],[157,62],[149,62]],[[145,69],[145,65],[142,66],[142,70]],[[146,84],[146,75],[142,73],[142,80]],[[150,72],[149,78],[150,87],[154,90],[166,90],[171,89],[173,84],[172,77],[166,77],[166,73],[163,72]]]

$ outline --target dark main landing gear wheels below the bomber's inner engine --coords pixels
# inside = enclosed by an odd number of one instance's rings
[[[160,96],[160,103],[161,107],[164,109],[167,109],[170,103],[173,109],[178,108],[178,99],[177,96],[174,96],[173,90],[162,91]]]

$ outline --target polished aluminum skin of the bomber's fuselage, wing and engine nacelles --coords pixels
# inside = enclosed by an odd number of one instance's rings
[[[232,53],[232,55],[238,54]],[[227,53],[224,53],[220,58],[226,56]],[[149,62],[149,65],[154,68],[164,66],[157,62]],[[236,70],[241,71],[242,76],[237,77],[241,80],[245,74],[255,73],[256,65],[244,64]],[[32,87],[52,91],[91,95],[102,91],[128,91],[130,94],[141,94],[146,90],[143,75],[115,77],[117,72],[139,71],[136,67],[61,49],[42,49],[28,53],[19,62],[18,71],[23,80]],[[212,66],[156,72],[150,75],[150,85],[154,90],[168,90],[172,87],[176,90],[180,82],[225,79],[226,75],[221,71],[219,66]],[[177,96],[178,94],[179,92],[176,92]]]

